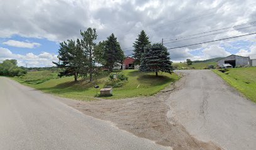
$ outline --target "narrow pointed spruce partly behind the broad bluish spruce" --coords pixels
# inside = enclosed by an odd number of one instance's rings
[[[144,48],[149,45],[149,37],[147,36],[144,30],[141,31],[141,34],[138,35],[136,41],[134,42],[134,64],[141,64],[142,54],[144,53]]]

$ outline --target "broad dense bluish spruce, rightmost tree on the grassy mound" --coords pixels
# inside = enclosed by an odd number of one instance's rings
[[[167,48],[162,44],[147,46],[141,59],[140,71],[154,72],[156,76],[158,76],[159,71],[171,73],[173,67],[171,66]]]

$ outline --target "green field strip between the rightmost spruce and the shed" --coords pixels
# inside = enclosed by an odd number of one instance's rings
[[[173,63],[174,68],[177,69],[205,69],[208,67],[208,65],[213,65],[216,67],[216,62],[210,62],[210,63],[193,63],[192,65],[188,65],[186,63]]]

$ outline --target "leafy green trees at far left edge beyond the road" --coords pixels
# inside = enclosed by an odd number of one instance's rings
[[[27,71],[24,67],[18,67],[15,59],[6,59],[0,63],[0,76],[22,76]]]

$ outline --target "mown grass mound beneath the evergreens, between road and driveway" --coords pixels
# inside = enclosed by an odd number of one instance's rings
[[[120,88],[114,88],[113,96],[107,97],[107,99],[151,96],[179,79],[178,75],[168,73],[159,73],[158,77],[155,77],[154,74],[141,73],[137,70],[124,70],[122,73],[128,76],[128,82]],[[99,85],[100,88],[103,88],[107,79],[109,79],[108,75],[105,73],[105,75],[99,76],[92,83],[88,83],[88,80],[85,79],[80,79],[75,83],[73,77],[58,78],[57,73],[51,73],[50,71],[29,72],[26,76],[13,79],[45,93],[65,98],[93,100],[96,96],[94,86]]]

